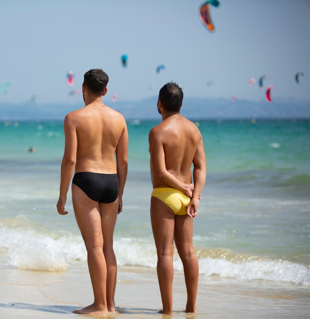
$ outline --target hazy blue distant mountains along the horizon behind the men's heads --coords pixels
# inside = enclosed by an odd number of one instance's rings
[[[106,102],[106,101],[105,101]],[[106,102],[111,108],[121,112],[126,120],[159,119],[157,97],[141,101]],[[65,115],[83,107],[75,104],[22,104],[0,103],[0,120],[63,120]],[[310,102],[294,99],[265,100],[256,102],[237,99],[184,98],[181,114],[190,119],[310,119]]]

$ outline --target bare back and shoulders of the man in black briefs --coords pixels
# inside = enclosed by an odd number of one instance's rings
[[[72,147],[76,141],[75,172],[116,173],[114,155],[122,137],[127,136],[123,116],[102,103],[94,102],[71,112],[65,121],[72,135],[75,134],[75,139],[73,136],[71,139]]]

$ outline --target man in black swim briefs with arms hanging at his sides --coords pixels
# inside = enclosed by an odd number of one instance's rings
[[[113,232],[122,211],[128,132],[124,117],[102,103],[108,81],[101,69],[86,72],[82,85],[85,107],[67,114],[64,120],[65,150],[57,210],[60,215],[68,214],[65,204],[74,173],[72,203],[87,249],[94,293],[91,305],[73,311],[81,314],[115,311]]]

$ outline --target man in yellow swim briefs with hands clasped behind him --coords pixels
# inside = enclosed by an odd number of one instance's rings
[[[192,243],[193,218],[197,216],[206,174],[200,131],[180,115],[182,103],[182,89],[173,82],[165,84],[157,102],[163,121],[149,132],[153,185],[150,216],[158,256],[161,312],[169,315],[172,314],[173,242],[184,265],[185,311],[196,312],[199,266]]]

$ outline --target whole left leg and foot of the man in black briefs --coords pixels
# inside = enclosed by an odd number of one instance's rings
[[[79,187],[72,184],[72,202],[75,219],[87,249],[89,274],[94,292],[94,303],[74,313],[108,313],[106,281],[107,265],[103,252],[104,238],[101,230],[99,204],[91,200]]]

